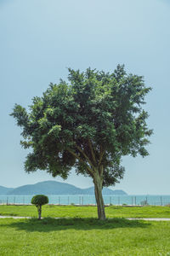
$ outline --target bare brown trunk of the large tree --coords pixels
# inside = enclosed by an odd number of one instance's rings
[[[103,220],[105,219],[105,204],[102,195],[102,179],[99,177],[99,173],[94,177],[94,192],[98,207],[98,218]]]

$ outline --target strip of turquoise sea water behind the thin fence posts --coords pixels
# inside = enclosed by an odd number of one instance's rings
[[[33,195],[0,195],[0,204],[31,204]],[[105,205],[170,204],[170,195],[104,195]],[[94,195],[48,195],[49,204],[95,205]]]

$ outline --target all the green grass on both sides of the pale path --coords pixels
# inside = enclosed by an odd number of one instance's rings
[[[96,207],[74,206],[44,206],[42,217],[46,218],[40,221],[0,218],[0,255],[170,256],[170,222],[126,219],[170,218],[170,207],[112,206],[105,210],[109,217],[105,221],[96,218]],[[37,217],[37,208],[0,206],[0,214]]]

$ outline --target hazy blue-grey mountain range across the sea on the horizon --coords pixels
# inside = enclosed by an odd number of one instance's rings
[[[1,187],[0,187],[1,188]],[[4,188],[7,189],[7,188]],[[25,185],[16,189],[4,190],[3,195],[94,195],[94,187],[79,189],[68,183],[45,181],[33,185]],[[103,195],[127,195],[123,190],[103,189]]]

